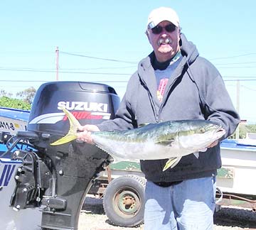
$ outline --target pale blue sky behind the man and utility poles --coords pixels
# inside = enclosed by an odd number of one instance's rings
[[[149,12],[176,10],[182,32],[218,68],[242,119],[256,122],[256,1],[6,1],[0,3],[0,90],[15,94],[56,79],[110,84],[123,96],[151,52]],[[92,58],[97,57],[97,58]],[[115,60],[115,61],[111,61]]]

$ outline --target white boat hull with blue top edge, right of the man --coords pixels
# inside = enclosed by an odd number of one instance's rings
[[[222,168],[218,170],[217,197],[220,204],[247,207],[256,211],[256,144],[253,140],[222,141]]]

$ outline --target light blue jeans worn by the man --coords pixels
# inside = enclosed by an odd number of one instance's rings
[[[144,230],[212,230],[215,177],[159,187],[146,182]]]

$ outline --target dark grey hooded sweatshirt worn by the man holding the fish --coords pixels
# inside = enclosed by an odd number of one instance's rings
[[[225,128],[225,137],[238,126],[240,118],[216,68],[200,57],[196,45],[181,34],[182,59],[166,85],[162,102],[157,98],[156,77],[151,63],[154,52],[139,62],[130,78],[114,120],[98,125],[101,131],[137,128],[140,124],[186,119],[215,121]],[[157,153],[156,153],[157,154]],[[220,145],[183,156],[174,168],[163,172],[166,160],[141,160],[142,172],[152,182],[176,182],[217,174],[221,167]]]

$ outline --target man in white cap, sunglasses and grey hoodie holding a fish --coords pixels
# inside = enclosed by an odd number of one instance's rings
[[[146,35],[154,51],[139,62],[116,119],[81,126],[78,139],[93,143],[90,131],[181,119],[215,121],[225,128],[225,138],[230,136],[240,119],[223,79],[181,33],[176,12],[165,7],[151,11]],[[215,177],[221,167],[218,141],[199,158],[187,155],[163,172],[165,163],[141,160],[147,180],[144,229],[213,229]]]

